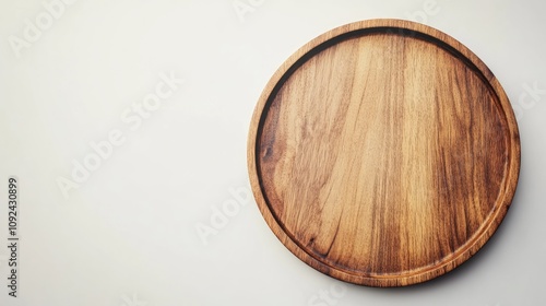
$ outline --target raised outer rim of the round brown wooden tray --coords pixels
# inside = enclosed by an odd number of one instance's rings
[[[266,114],[264,110],[266,110],[268,102],[271,95],[275,93],[277,84],[282,86],[284,83],[283,78],[292,74],[290,69],[298,69],[298,61],[307,61],[305,58],[308,56],[312,57],[312,52],[323,44],[332,43],[332,40],[340,38],[343,35],[357,35],[356,32],[379,28],[417,33],[419,35],[424,35],[424,37],[434,38],[437,40],[436,43],[442,43],[444,44],[444,47],[448,46],[463,56],[464,58],[462,60],[466,60],[467,63],[471,63],[473,68],[477,69],[477,72],[479,72],[480,76],[484,78],[484,82],[490,86],[491,93],[496,94],[499,108],[503,113],[507,121],[507,139],[510,140],[510,143],[507,146],[507,151],[509,151],[507,174],[503,178],[505,185],[501,186],[505,187],[505,192],[502,195],[499,193],[499,199],[495,203],[496,208],[494,207],[494,210],[489,214],[488,219],[484,221],[478,232],[476,232],[475,235],[462,245],[459,250],[451,254],[451,256],[444,257],[437,264],[418,269],[418,271],[412,272],[411,270],[407,275],[364,275],[353,273],[329,266],[308,254],[289,236],[288,233],[285,232],[283,226],[278,224],[274,213],[270,210],[270,204],[265,199],[264,191],[260,183],[261,177],[257,166],[258,161],[256,158],[258,137],[260,136],[261,130],[260,126],[264,114]],[[329,46],[327,46],[327,48]],[[518,123],[506,92],[489,68],[476,55],[474,55],[474,52],[455,38],[428,25],[396,19],[375,19],[348,23],[328,31],[300,47],[281,64],[262,91],[252,114],[247,140],[247,164],[252,193],[263,219],[281,243],[297,258],[313,269],[345,282],[367,286],[405,286],[429,281],[461,266],[474,256],[495,234],[498,226],[505,219],[515,193],[521,165],[521,145]]]

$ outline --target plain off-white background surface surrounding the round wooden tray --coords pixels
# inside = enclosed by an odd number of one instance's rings
[[[546,2],[78,0],[49,19],[41,2],[0,4],[0,305],[546,304]],[[403,289],[314,271],[245,198],[246,138],[268,80],[313,37],[373,17],[424,22],[471,48],[508,93],[522,143],[496,235],[462,267]],[[185,82],[140,127],[127,123],[162,74]],[[112,131],[124,141],[63,197],[59,180]],[[7,287],[10,176],[17,298]],[[230,215],[217,215],[223,205]]]

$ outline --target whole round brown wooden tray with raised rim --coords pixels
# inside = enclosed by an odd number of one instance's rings
[[[248,167],[294,255],[346,282],[404,286],[452,270],[495,233],[520,140],[472,51],[423,24],[370,20],[283,63],[258,102]]]

